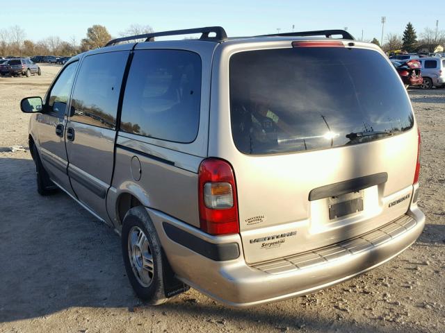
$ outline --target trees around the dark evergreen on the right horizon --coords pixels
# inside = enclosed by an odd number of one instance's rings
[[[425,45],[428,52],[434,52],[437,45],[444,46],[445,44],[445,31],[437,31],[432,28],[425,28],[420,34],[419,39],[417,37],[416,30],[411,22],[408,22],[403,35],[396,33],[389,33],[386,38],[386,42],[383,43],[382,49],[385,52],[403,50],[408,53],[412,53],[419,49],[419,46]],[[377,38],[374,38],[371,43],[380,46],[380,42]]]

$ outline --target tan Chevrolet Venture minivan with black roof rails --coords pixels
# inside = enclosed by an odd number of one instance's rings
[[[39,193],[62,189],[118,230],[149,304],[188,287],[235,307],[312,293],[425,223],[410,99],[382,50],[346,31],[123,37],[21,106]]]

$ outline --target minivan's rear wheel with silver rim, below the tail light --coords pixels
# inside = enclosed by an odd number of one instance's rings
[[[145,207],[133,207],[125,214],[121,240],[125,269],[136,296],[148,305],[166,302],[168,262]]]

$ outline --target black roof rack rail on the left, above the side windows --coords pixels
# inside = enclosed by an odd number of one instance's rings
[[[114,40],[109,41],[108,43],[106,43],[105,46],[115,45],[115,44],[118,44],[119,42],[125,42],[126,40],[140,40],[143,38],[145,38],[145,42],[154,42],[154,37],[188,35],[191,33],[201,33],[200,40],[211,40],[213,42],[220,42],[223,40],[227,40],[227,33],[225,33],[225,30],[222,26],[206,26],[204,28],[159,31],[158,33],[144,33],[142,35],[120,37],[120,38],[115,38]],[[210,33],[215,33],[215,36],[209,37]]]

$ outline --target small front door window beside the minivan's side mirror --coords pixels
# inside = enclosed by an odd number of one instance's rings
[[[65,67],[60,76],[58,76],[47,99],[47,112],[55,113],[59,117],[63,117],[65,114],[76,68],[77,62],[72,62],[72,64]]]

